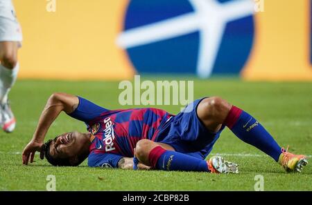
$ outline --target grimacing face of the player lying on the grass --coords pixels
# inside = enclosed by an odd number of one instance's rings
[[[52,157],[69,158],[82,154],[89,148],[89,135],[87,133],[64,133],[53,139],[50,145]]]

